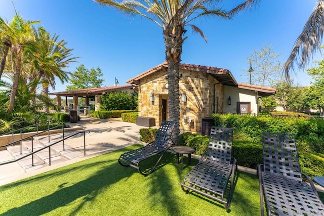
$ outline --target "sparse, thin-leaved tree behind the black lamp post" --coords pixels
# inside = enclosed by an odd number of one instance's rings
[[[254,85],[261,85],[270,87],[274,82],[278,80],[281,65],[280,62],[276,60],[281,54],[275,54],[272,49],[272,45],[267,47],[264,44],[259,51],[254,50],[251,56],[248,58],[252,61],[253,70],[252,72],[244,70],[246,83],[250,83],[250,73],[251,73],[251,83]],[[277,78],[274,80],[273,77]]]

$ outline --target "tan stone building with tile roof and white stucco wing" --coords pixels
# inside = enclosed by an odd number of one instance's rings
[[[153,117],[156,125],[169,119],[167,67],[164,62],[127,81],[138,85],[139,116]],[[181,131],[201,132],[203,118],[216,112],[257,113],[258,98],[276,91],[237,83],[222,68],[180,64],[179,74]]]

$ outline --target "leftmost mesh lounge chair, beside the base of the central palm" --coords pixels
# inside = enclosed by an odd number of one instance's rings
[[[172,146],[169,144],[169,142],[171,140],[170,137],[173,132],[174,125],[174,121],[163,121],[158,129],[155,140],[142,148],[121,154],[118,159],[120,165],[134,167],[143,176],[151,174],[166,151]],[[139,163],[157,154],[161,154],[161,156],[155,163],[154,167],[149,172],[141,171]]]

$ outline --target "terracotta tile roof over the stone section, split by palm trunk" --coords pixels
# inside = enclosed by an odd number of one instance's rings
[[[168,68],[168,63],[163,62],[163,63],[161,63],[147,71],[144,71],[143,73],[127,80],[126,82],[139,84],[139,80],[141,78],[143,78],[151,73],[154,73],[155,71],[158,71],[158,70],[167,70],[167,68]],[[180,69],[209,73],[209,74],[212,74],[219,81],[227,81],[228,85],[232,85],[232,86],[237,85],[237,82],[236,82],[234,76],[227,69],[203,66],[203,65],[182,64],[182,63],[180,63]]]

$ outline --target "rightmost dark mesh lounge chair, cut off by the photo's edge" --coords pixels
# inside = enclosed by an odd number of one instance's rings
[[[262,133],[263,169],[258,166],[261,215],[263,192],[268,215],[323,215],[324,205],[312,181],[302,181],[293,135]]]

